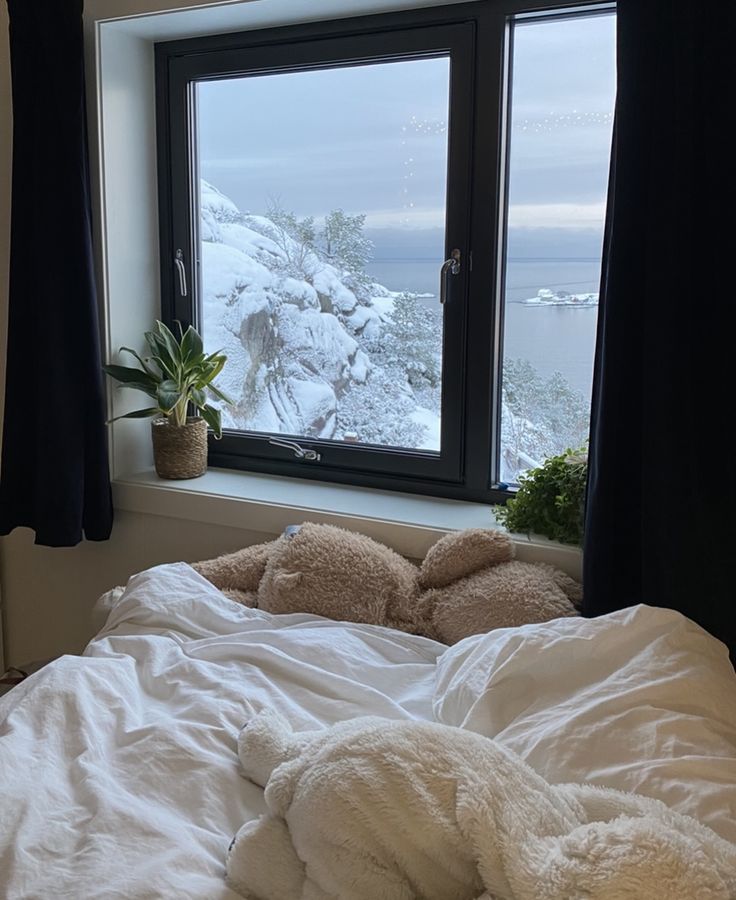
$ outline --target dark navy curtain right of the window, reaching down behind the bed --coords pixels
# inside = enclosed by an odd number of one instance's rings
[[[732,654],[735,7],[618,2],[584,547],[586,614],[671,607]]]

